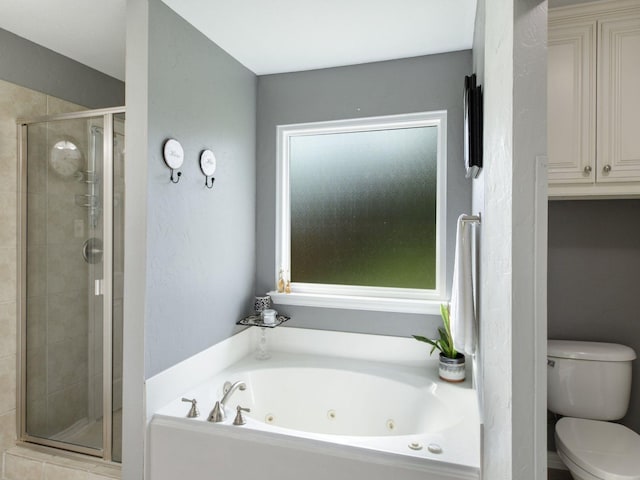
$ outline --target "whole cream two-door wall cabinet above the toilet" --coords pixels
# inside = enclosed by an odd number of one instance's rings
[[[640,196],[640,4],[549,12],[549,195]]]

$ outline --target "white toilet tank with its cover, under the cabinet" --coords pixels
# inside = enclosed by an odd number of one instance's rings
[[[547,408],[569,417],[618,420],[627,412],[631,362],[625,345],[572,340],[547,342]]]

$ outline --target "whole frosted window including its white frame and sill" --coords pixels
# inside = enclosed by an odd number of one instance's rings
[[[280,125],[276,304],[438,313],[447,112]]]

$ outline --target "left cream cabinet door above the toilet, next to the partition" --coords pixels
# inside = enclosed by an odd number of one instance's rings
[[[549,183],[595,181],[596,22],[549,26]]]

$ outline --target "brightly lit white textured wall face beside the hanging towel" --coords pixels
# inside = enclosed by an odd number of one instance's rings
[[[486,1],[480,354],[484,478],[510,479],[512,381],[513,2]],[[474,182],[475,183],[475,182]]]

